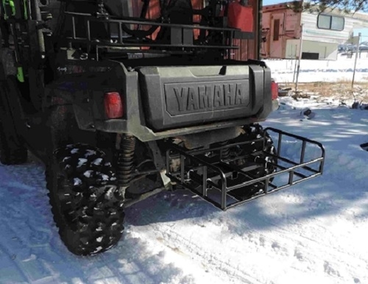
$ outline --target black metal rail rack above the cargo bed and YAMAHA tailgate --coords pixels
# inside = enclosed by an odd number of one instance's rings
[[[163,53],[163,54],[192,54],[198,52],[206,52],[208,49],[217,50],[236,50],[240,47],[234,45],[233,39],[240,32],[240,29],[228,28],[224,26],[208,26],[200,23],[193,24],[173,24],[162,22],[159,19],[142,19],[135,17],[115,17],[112,15],[103,17],[88,13],[76,13],[66,11],[66,20],[71,27],[71,35],[65,36],[69,47],[73,44],[85,44],[88,52],[99,53],[100,49],[111,49],[113,52],[124,50],[125,52],[135,53]],[[76,21],[83,22],[85,29],[78,32],[79,26]],[[107,36],[103,39],[100,34],[93,35],[91,25],[101,24],[105,26]],[[130,29],[129,26],[151,26],[148,30]],[[171,29],[172,35],[169,42],[160,40],[152,40],[149,38],[159,28]],[[221,39],[216,43],[206,42],[206,38],[202,40],[193,39],[193,30],[202,30],[206,32],[217,32],[221,35]],[[112,33],[116,31],[116,34]],[[245,38],[253,39],[254,33],[242,32]],[[147,49],[142,49],[146,47]],[[137,48],[134,50],[133,48]]]

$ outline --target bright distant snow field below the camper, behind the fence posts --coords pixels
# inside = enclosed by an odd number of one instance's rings
[[[333,82],[353,78],[355,57],[339,55],[338,60],[301,60],[299,82]],[[265,60],[277,82],[294,82],[296,60]],[[357,60],[355,82],[368,81],[368,52],[362,53]]]

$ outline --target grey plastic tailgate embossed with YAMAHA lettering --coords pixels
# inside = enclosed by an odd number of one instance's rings
[[[264,90],[270,72],[258,65],[136,70],[146,123],[154,130],[251,117],[271,103]]]

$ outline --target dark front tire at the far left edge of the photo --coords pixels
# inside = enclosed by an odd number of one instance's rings
[[[14,78],[8,78],[10,84]],[[13,94],[7,82],[0,83],[0,162],[4,165],[23,164],[27,161],[27,149],[15,127],[8,96]],[[13,106],[14,107],[14,106]],[[19,115],[19,114],[18,114]]]

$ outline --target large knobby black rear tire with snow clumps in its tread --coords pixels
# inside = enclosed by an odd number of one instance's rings
[[[124,230],[123,198],[105,153],[73,144],[54,152],[46,180],[61,240],[76,255],[115,245]]]

